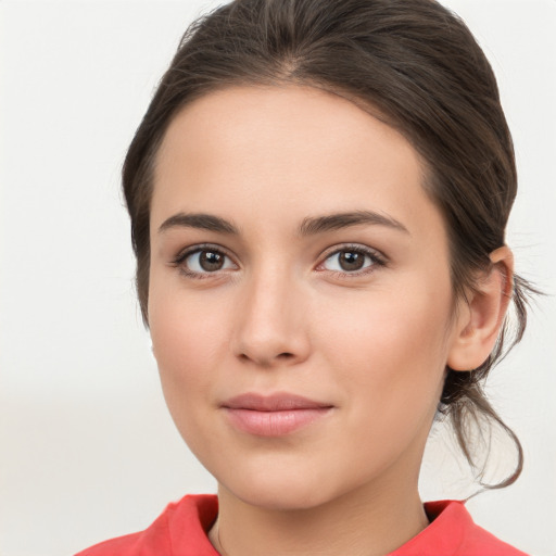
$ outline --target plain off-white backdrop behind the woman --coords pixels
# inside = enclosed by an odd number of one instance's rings
[[[118,188],[181,34],[218,3],[0,3],[2,556],[73,554],[147,527],[187,492],[215,491],[164,405]],[[517,269],[554,294],[556,1],[444,3],[500,80],[520,175],[508,233]],[[480,525],[538,556],[556,554],[555,359],[546,296],[489,381],[522,440],[522,478],[468,504]],[[469,493],[453,453],[435,434],[425,498]],[[507,453],[496,457],[504,465]]]

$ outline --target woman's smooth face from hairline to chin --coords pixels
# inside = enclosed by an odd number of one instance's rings
[[[186,106],[157,154],[149,321],[166,402],[231,496],[416,489],[457,333],[443,219],[395,130],[311,87]]]

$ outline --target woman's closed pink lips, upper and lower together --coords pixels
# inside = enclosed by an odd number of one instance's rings
[[[232,427],[257,437],[283,437],[321,419],[333,405],[296,394],[241,394],[222,404]]]

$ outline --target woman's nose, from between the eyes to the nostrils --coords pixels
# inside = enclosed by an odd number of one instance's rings
[[[260,367],[295,365],[311,352],[303,288],[279,271],[253,276],[238,296],[233,352]]]

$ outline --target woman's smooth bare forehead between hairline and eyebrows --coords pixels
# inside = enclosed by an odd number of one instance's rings
[[[437,208],[424,168],[399,131],[343,97],[308,86],[231,87],[170,122],[152,219],[207,208],[235,219],[255,205],[267,222],[361,208],[427,218]]]

